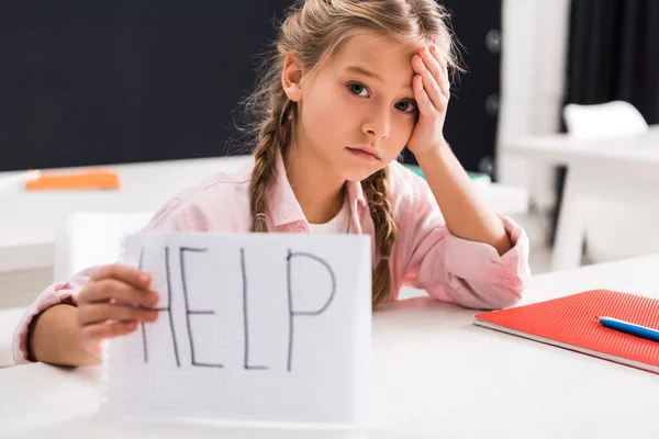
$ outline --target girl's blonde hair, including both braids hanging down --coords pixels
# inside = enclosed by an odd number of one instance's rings
[[[278,150],[286,153],[295,123],[297,104],[288,99],[281,85],[286,56],[295,54],[312,72],[351,36],[376,31],[402,44],[436,44],[454,72],[459,68],[447,18],[446,10],[434,0],[302,0],[287,11],[273,49],[261,66],[258,86],[243,101],[248,120],[253,124],[256,120],[253,232],[268,232],[266,200],[275,177],[275,158]],[[387,166],[361,181],[375,224],[376,248],[381,255],[372,278],[373,305],[389,294],[389,256],[398,235],[387,196],[388,175]]]

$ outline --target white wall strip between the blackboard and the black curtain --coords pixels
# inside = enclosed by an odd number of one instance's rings
[[[506,140],[555,133],[563,100],[570,0],[503,0],[498,172],[521,184],[543,211],[556,204],[555,172],[511,157]]]

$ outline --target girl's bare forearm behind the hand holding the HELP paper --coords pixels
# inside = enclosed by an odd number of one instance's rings
[[[92,365],[99,359],[83,349],[77,326],[78,308],[55,305],[44,311],[29,335],[32,359],[59,365]]]

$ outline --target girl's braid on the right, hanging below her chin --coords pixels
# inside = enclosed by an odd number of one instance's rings
[[[389,167],[380,169],[361,182],[376,232],[376,248],[380,251],[380,261],[373,271],[372,280],[372,304],[387,299],[391,289],[391,277],[389,273],[389,256],[398,236],[398,228],[393,221],[391,203],[387,198],[387,178]]]

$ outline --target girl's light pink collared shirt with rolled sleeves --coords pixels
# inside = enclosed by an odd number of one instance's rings
[[[234,175],[216,173],[167,202],[145,230],[158,232],[249,232],[249,183],[252,166]],[[398,299],[402,286],[425,290],[438,301],[472,308],[501,308],[515,304],[525,290],[528,268],[528,238],[512,219],[501,216],[514,247],[505,255],[488,244],[461,239],[446,227],[429,187],[402,165],[390,165],[389,200],[399,236],[389,259],[391,291]],[[349,233],[369,234],[373,268],[379,261],[375,248],[373,222],[361,184],[347,183],[350,209]],[[270,232],[310,233],[310,225],[286,177],[281,156],[277,158],[276,182],[268,199]],[[76,304],[77,295],[93,268],[49,285],[30,306],[14,334],[16,364],[29,361],[27,331],[33,318],[58,303]]]

